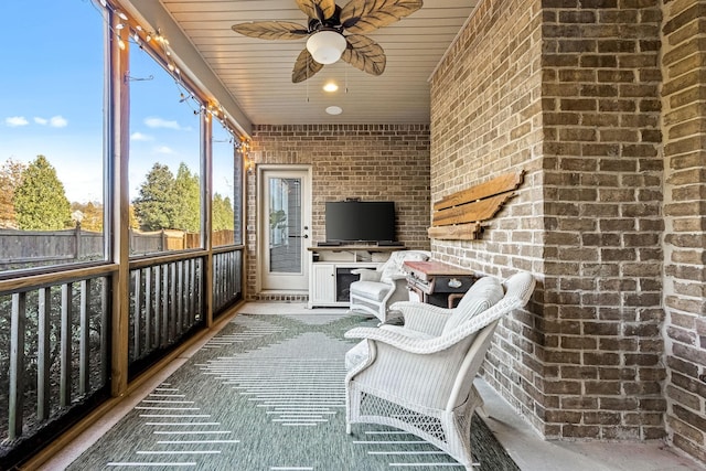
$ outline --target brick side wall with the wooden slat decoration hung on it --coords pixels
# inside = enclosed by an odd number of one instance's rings
[[[431,82],[431,200],[524,170],[517,196],[480,240],[432,240],[435,258],[483,274],[543,272],[541,14],[534,0],[480,3]],[[512,38],[512,41],[507,41]],[[461,78],[459,78],[461,77]],[[505,319],[489,352],[484,376],[542,430],[535,384],[542,282],[531,312]]]

